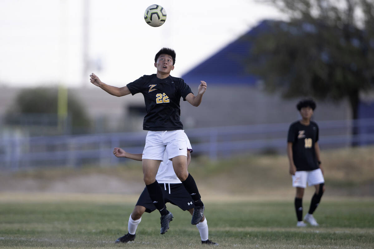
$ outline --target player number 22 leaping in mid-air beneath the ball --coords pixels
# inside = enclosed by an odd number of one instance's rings
[[[205,81],[201,81],[196,96],[183,79],[170,75],[174,69],[175,52],[169,48],[162,48],[154,57],[156,74],[144,75],[138,80],[124,87],[114,87],[102,83],[91,74],[91,83],[102,88],[109,94],[120,97],[128,94],[142,93],[145,102],[143,130],[147,130],[145,147],[142,156],[144,183],[149,195],[161,214],[160,233],[169,229],[169,222],[173,215],[163,201],[162,190],[156,181],[157,170],[163,161],[164,153],[173,162],[175,174],[182,181],[183,186],[194,200],[194,211],[191,224],[198,224],[203,218],[204,204],[200,199],[199,190],[193,177],[187,170],[187,143],[180,121],[180,99],[187,100],[193,106],[199,106],[206,91]]]

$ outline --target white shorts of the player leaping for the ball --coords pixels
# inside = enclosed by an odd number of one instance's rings
[[[187,157],[186,133],[176,131],[148,131],[142,159],[163,161],[164,153],[168,158],[176,156]]]

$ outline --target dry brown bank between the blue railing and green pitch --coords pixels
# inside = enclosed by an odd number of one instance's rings
[[[323,151],[325,195],[374,196],[374,147]],[[242,155],[209,161],[193,158],[188,169],[200,193],[209,195],[293,196],[285,155]],[[140,194],[141,163],[84,168],[44,168],[2,172],[0,192]],[[306,196],[312,196],[308,187]]]

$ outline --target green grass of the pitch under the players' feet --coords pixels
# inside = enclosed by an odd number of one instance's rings
[[[27,200],[0,195],[0,248],[207,248],[191,215],[168,204],[174,220],[160,235],[159,213],[145,213],[134,242],[114,244],[127,233],[134,197],[82,198],[37,194]],[[78,200],[77,200],[78,199]],[[80,200],[79,200],[80,199]],[[322,200],[320,227],[296,228],[289,200],[208,201],[209,239],[219,248],[374,248],[374,199]],[[304,210],[309,203],[304,201]]]

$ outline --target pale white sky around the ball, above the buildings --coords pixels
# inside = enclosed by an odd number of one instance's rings
[[[161,27],[144,21],[151,4],[166,10]],[[94,87],[95,72],[120,87],[154,74],[162,47],[181,77],[263,19],[282,15],[256,0],[1,0],[0,85]]]

